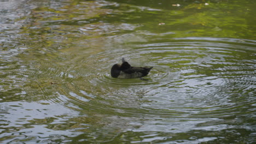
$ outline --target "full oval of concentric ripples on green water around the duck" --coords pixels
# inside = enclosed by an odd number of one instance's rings
[[[48,97],[55,103],[66,99],[63,105],[71,100],[69,107],[73,109],[84,105],[107,113],[137,116],[139,111],[143,115],[183,118],[234,115],[253,100],[253,94],[248,93],[253,92],[256,81],[255,45],[252,40],[179,38],[151,44],[136,42],[118,51],[85,54],[84,50],[73,59],[59,56],[40,63],[39,71],[54,76],[50,76],[52,80],[37,77],[36,81],[56,82],[43,89],[41,86],[42,92],[59,87],[59,94]],[[131,65],[153,66],[144,77],[148,81],[111,77],[110,68],[121,63],[122,57]],[[53,65],[55,59],[60,62]],[[63,98],[56,99],[57,95]]]

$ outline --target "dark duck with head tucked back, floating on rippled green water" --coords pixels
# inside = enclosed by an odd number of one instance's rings
[[[153,67],[132,67],[128,62],[122,58],[122,64],[114,64],[111,68],[111,76],[118,79],[142,79],[143,76],[148,75]],[[143,80],[143,79],[142,79]]]

